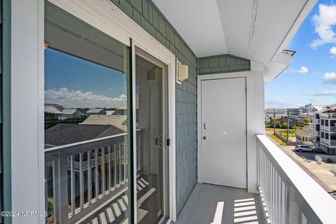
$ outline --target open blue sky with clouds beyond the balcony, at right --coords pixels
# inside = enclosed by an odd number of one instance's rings
[[[318,1],[288,44],[290,68],[265,84],[265,108],[336,103],[336,4]]]

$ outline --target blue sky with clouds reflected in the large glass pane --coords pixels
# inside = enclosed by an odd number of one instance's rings
[[[63,52],[45,49],[45,102],[65,108],[126,104],[124,73]]]

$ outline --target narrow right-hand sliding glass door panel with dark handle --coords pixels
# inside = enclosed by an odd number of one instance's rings
[[[135,64],[137,221],[151,224],[167,211],[167,66],[139,49]]]

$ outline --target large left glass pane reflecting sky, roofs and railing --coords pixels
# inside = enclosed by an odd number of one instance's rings
[[[129,77],[129,47],[46,3],[46,223],[130,216]]]

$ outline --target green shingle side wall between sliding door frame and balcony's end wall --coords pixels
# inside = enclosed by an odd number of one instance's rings
[[[189,66],[188,80],[176,84],[176,209],[179,213],[197,182],[197,57],[152,1],[111,1]]]

